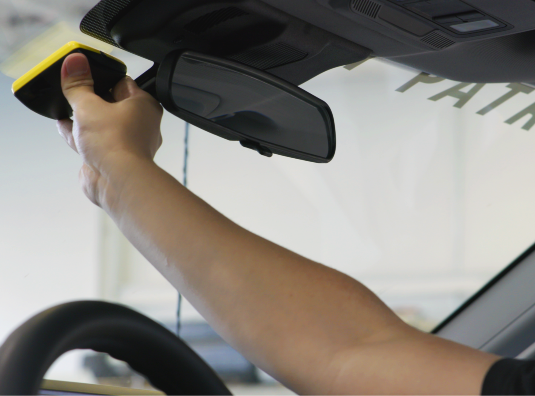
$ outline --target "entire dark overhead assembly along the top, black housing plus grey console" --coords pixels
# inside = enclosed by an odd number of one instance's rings
[[[102,0],[83,32],[159,63],[193,49],[295,84],[373,56],[447,79],[535,82],[535,0]]]

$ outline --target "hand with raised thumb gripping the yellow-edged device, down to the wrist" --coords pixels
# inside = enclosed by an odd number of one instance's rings
[[[98,206],[112,205],[118,186],[110,175],[128,177],[132,161],[152,161],[162,145],[163,109],[134,80],[125,77],[112,90],[112,103],[95,95],[85,55],[68,56],[62,67],[62,88],[73,120],[58,121],[59,134],[84,162],[80,182]],[[121,173],[121,175],[117,175]]]

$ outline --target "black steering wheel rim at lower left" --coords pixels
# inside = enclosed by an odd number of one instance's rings
[[[74,349],[123,360],[169,396],[232,396],[172,332],[132,309],[101,301],[58,305],[15,330],[0,347],[0,396],[36,396],[51,364]]]

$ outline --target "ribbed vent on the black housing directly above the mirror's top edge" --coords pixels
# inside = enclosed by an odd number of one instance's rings
[[[261,48],[245,51],[228,58],[248,66],[266,70],[286,65],[307,57],[308,53],[285,43],[265,45]]]

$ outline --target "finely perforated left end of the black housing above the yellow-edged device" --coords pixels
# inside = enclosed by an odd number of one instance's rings
[[[82,33],[91,37],[98,38],[98,40],[121,48],[110,35],[110,24],[128,6],[134,5],[134,3],[139,1],[140,0],[102,0],[95,5],[85,17],[83,17],[80,24],[80,30]]]

